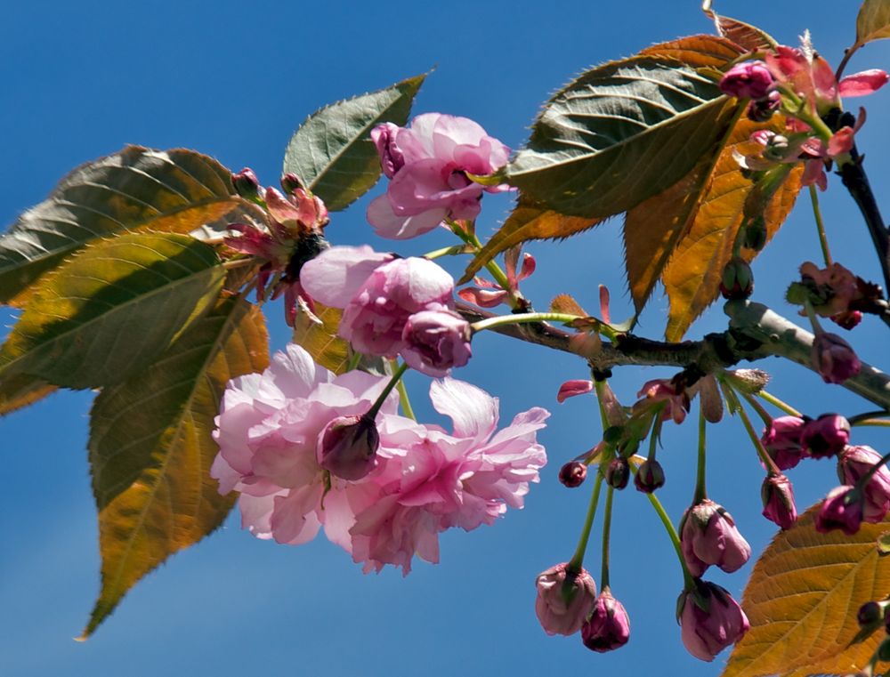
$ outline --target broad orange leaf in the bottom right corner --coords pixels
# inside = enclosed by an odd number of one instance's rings
[[[741,606],[751,629],[732,651],[723,677],[855,673],[878,645],[875,636],[847,645],[856,611],[890,592],[890,560],[876,540],[890,521],[862,524],[854,536],[820,534],[814,505],[773,538],[754,567]]]

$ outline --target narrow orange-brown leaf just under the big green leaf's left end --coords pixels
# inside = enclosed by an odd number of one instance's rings
[[[501,252],[529,240],[568,238],[593,228],[603,219],[588,219],[581,216],[566,216],[541,206],[534,200],[520,196],[519,202],[507,217],[504,225],[485,243],[473,261],[466,267],[464,277],[457,282],[463,285],[473,279],[473,275]]]

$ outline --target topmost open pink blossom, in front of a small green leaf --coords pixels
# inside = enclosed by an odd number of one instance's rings
[[[510,149],[466,117],[425,113],[408,127],[379,125],[371,138],[391,180],[368,206],[368,222],[383,238],[414,238],[446,218],[474,219],[483,192],[508,189],[467,177],[506,165]]]

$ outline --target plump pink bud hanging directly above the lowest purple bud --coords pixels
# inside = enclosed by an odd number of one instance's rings
[[[701,576],[711,564],[732,573],[751,556],[751,546],[739,533],[732,515],[709,498],[684,512],[680,545],[692,576]]]

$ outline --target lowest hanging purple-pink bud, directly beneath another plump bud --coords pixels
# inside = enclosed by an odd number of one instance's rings
[[[706,581],[681,594],[678,607],[684,647],[703,661],[714,660],[750,627],[739,602],[724,588]]]

